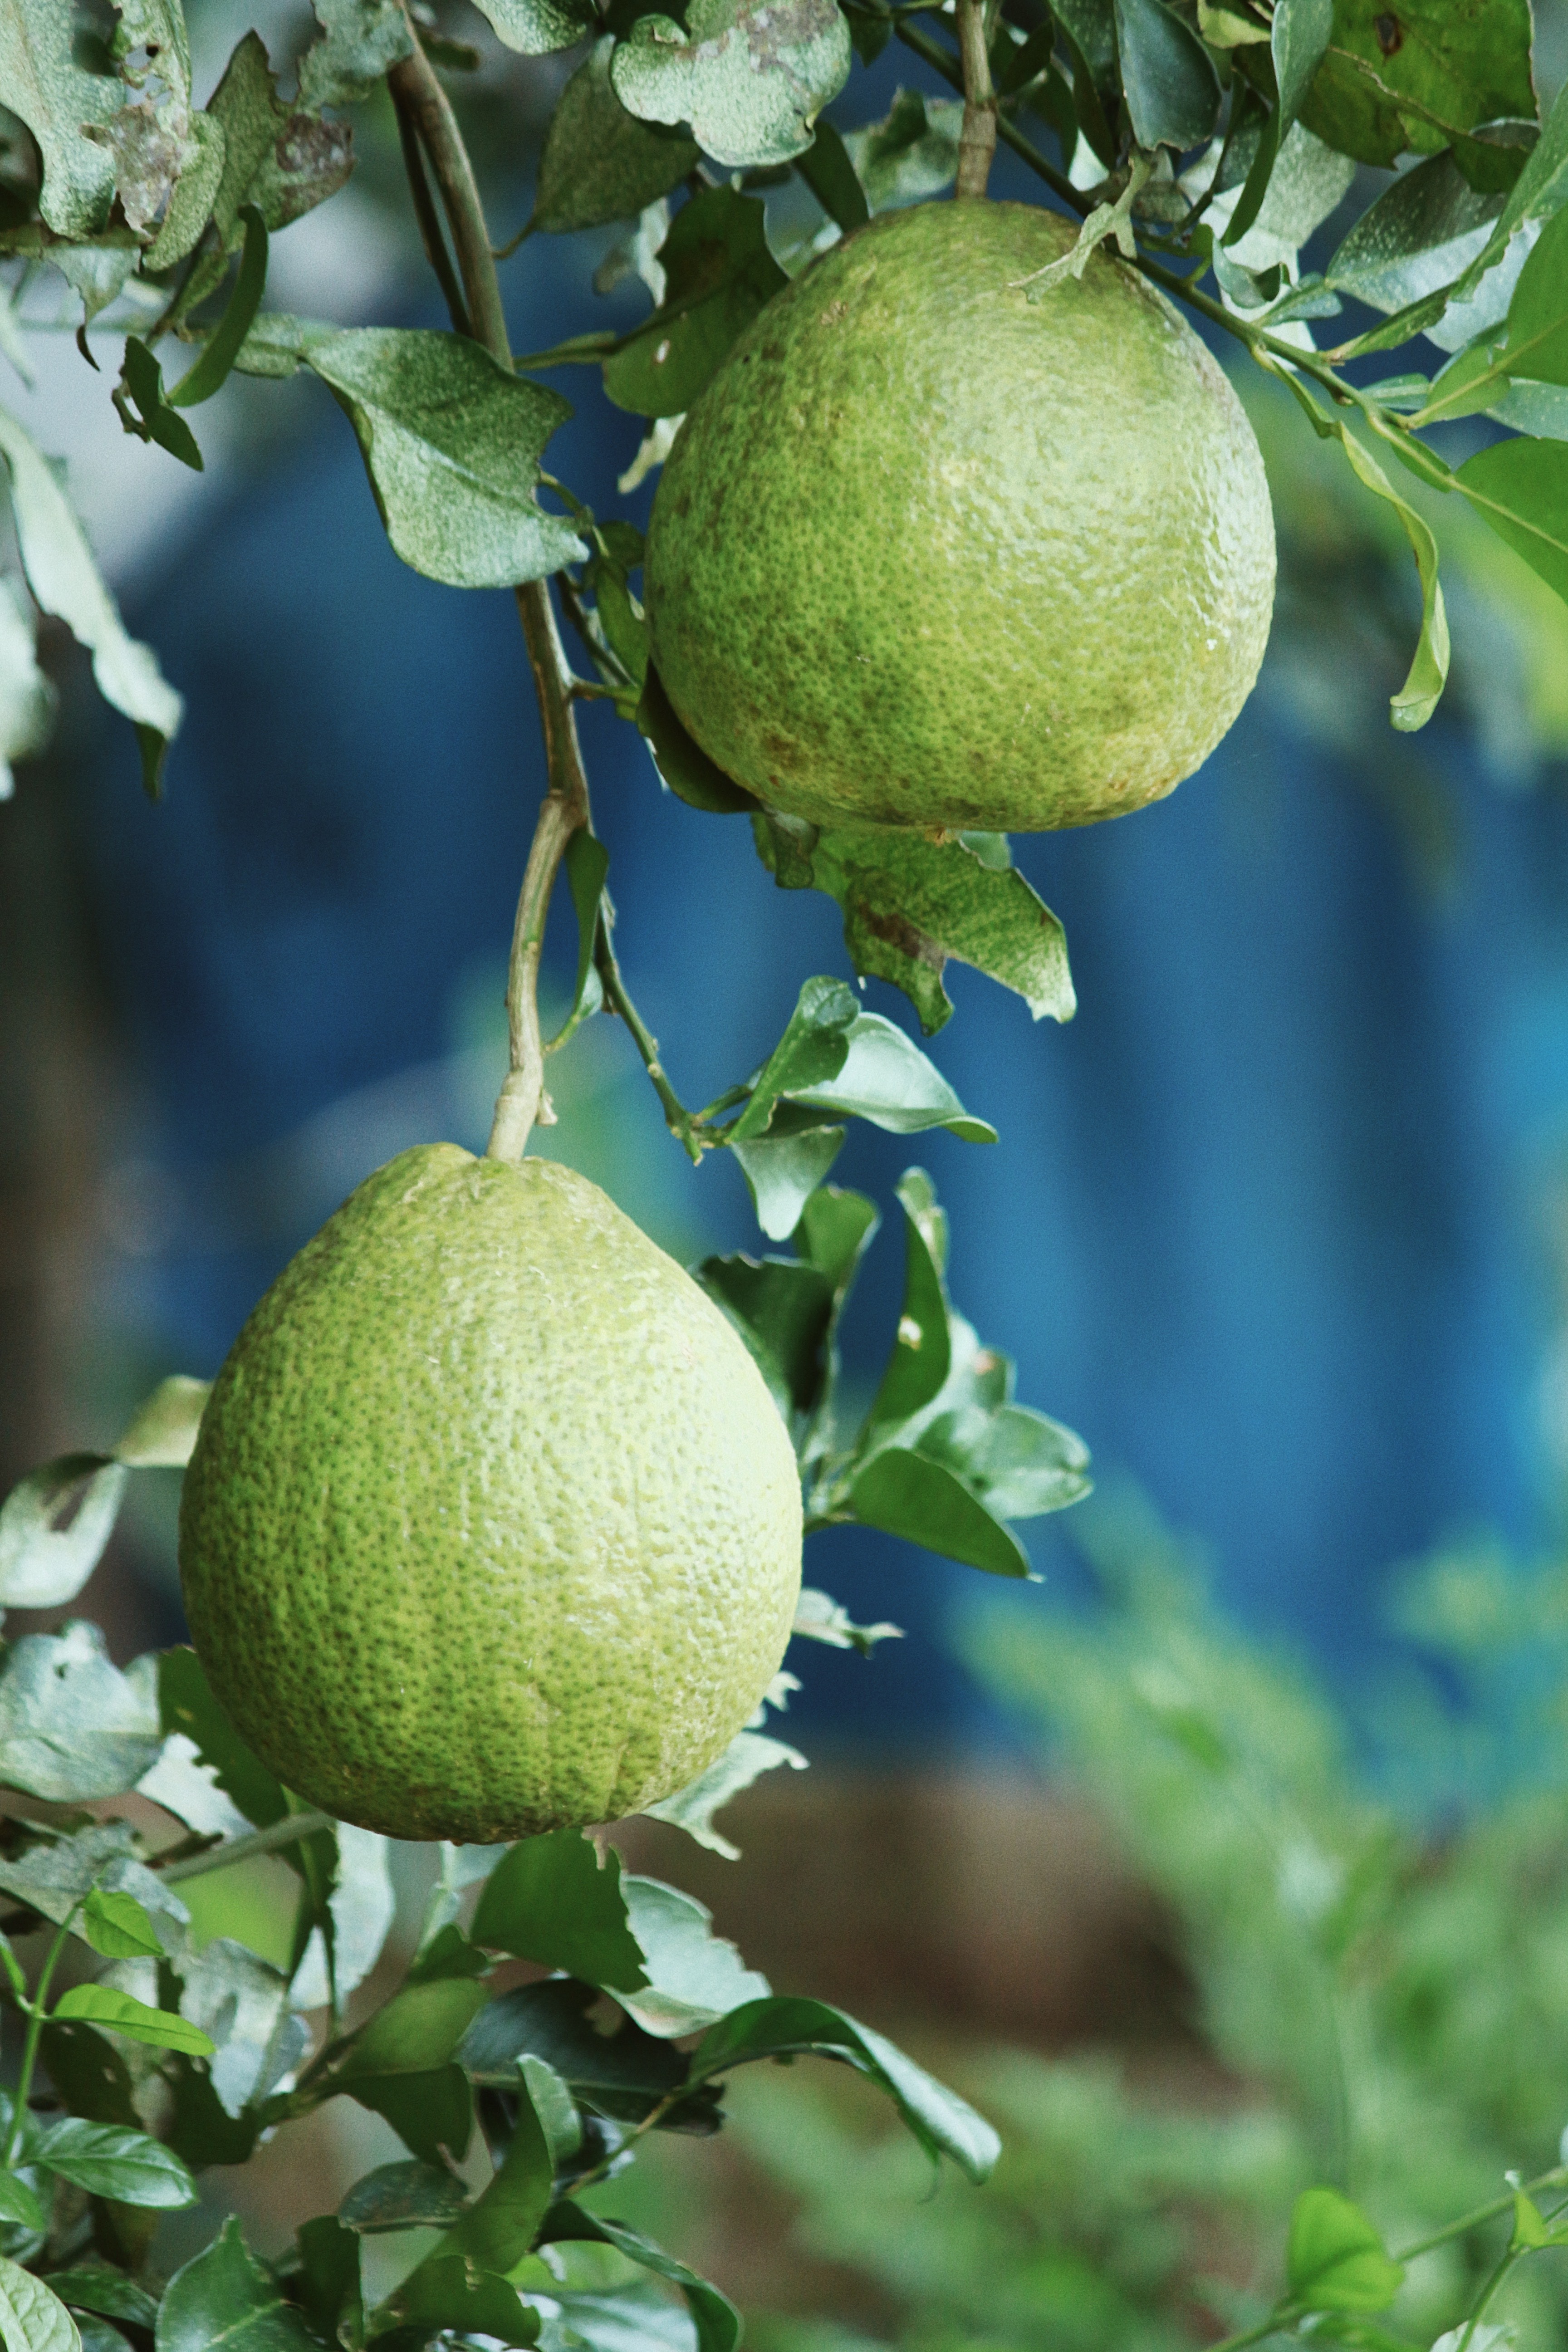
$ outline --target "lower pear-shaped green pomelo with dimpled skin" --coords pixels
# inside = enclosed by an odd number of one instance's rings
[[[696,1282],[548,1160],[369,1176],[219,1374],[179,1562],[310,1804],[489,1844],[693,1780],[783,1658],[795,1451]]]

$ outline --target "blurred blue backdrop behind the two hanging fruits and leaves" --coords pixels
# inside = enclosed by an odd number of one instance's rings
[[[531,73],[543,115],[550,89]],[[922,87],[907,54],[856,80],[846,127],[898,82]],[[376,315],[435,322],[386,127],[364,125],[360,143]],[[1025,193],[1013,169],[999,193]],[[498,228],[522,219],[524,181],[491,155]],[[353,247],[324,235],[301,223],[277,240],[273,299],[350,318],[353,296],[334,292],[353,282]],[[296,263],[315,270],[303,294],[289,294],[289,240],[313,256]],[[609,242],[538,238],[508,263],[517,350],[639,315],[635,282],[590,292]],[[557,381],[576,416],[552,470],[599,513],[642,520],[651,482],[616,494],[637,421],[595,372]],[[1018,1359],[1020,1397],[1204,1538],[1244,1621],[1354,1684],[1396,1663],[1380,1604],[1394,1562],[1462,1526],[1523,1548],[1559,1531],[1568,612],[1441,517],[1458,532],[1455,687],[1425,736],[1394,736],[1408,560],[1265,388],[1241,390],[1262,402],[1284,543],[1262,684],[1168,802],[1016,842],[1067,927],[1081,1009],[1067,1028],[1032,1025],[1018,1000],[950,969],[957,1011],[931,1051],[1001,1143],[938,1134],[919,1160],[952,1214],[954,1301]],[[543,788],[510,597],[437,588],[393,557],[324,388],[240,386],[233,419],[200,494],[165,485],[183,501],[174,520],[132,534],[120,562],[127,619],[188,696],[165,804],[141,800],[129,736],[85,703],[49,779],[120,1070],[94,1129],[71,1359],[82,1414],[106,1423],[162,1371],[212,1374],[273,1272],[374,1164],[433,1136],[482,1148]],[[101,475],[106,515],[158,501],[176,468],[134,449],[134,473],[153,489]],[[851,976],[837,908],[778,891],[743,818],[663,793],[602,706],[585,746],[628,983],[682,1096],[705,1101],[766,1054],[809,974]],[[21,795],[35,790],[24,769]],[[557,997],[574,955],[557,908]],[[914,1025],[877,983],[867,1004]],[[618,1023],[590,1023],[552,1084],[545,1148],[670,1249],[766,1247],[738,1169],[719,1157],[693,1174],[665,1136]],[[872,1192],[896,1228],[910,1157],[853,1129],[835,1181]],[[893,1228],[846,1334],[867,1378],[896,1322]],[[1079,1592],[1056,1522],[1025,1541],[1058,1595]],[[127,1564],[148,1637],[169,1637],[167,1496],[141,1503]],[[806,1573],[910,1635],[872,1665],[813,1649],[785,1726],[809,1750],[1006,1738],[947,1646],[973,1571],[835,1531]]]

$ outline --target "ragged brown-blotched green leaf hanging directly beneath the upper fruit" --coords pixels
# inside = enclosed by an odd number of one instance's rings
[[[952,1014],[950,957],[1013,988],[1037,1021],[1077,1011],[1063,927],[1016,868],[983,863],[961,840],[891,826],[818,833],[769,811],[752,830],[780,889],[839,901],[856,971],[903,988],[929,1037]]]

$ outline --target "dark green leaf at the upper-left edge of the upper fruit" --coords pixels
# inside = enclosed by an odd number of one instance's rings
[[[642,26],[663,21],[644,16]],[[703,188],[679,207],[658,249],[665,299],[604,362],[604,390],[618,409],[679,416],[780,292],[785,273],[769,252],[764,221],[759,198],[736,188]]]

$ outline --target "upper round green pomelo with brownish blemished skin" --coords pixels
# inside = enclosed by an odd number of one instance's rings
[[[654,501],[654,666],[813,823],[1032,833],[1159,800],[1246,701],[1274,520],[1220,367],[1037,205],[891,212],[691,409]],[[1030,294],[1039,299],[1030,299]]]

